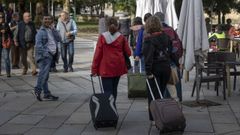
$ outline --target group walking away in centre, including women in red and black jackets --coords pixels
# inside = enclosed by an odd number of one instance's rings
[[[143,25],[143,21],[145,24]],[[105,21],[105,23],[104,23]],[[124,27],[124,28],[122,28]],[[106,93],[117,98],[117,86],[121,75],[128,71],[124,63],[124,55],[133,56],[134,65],[142,64],[141,70],[147,78],[157,79],[162,95],[166,95],[167,84],[170,79],[171,66],[180,68],[178,58],[174,55],[171,35],[176,33],[173,28],[164,23],[164,14],[145,14],[144,18],[136,17],[133,23],[128,18],[117,20],[104,17],[99,20],[99,39],[94,54],[91,73],[102,78],[103,89]],[[105,31],[104,31],[105,30]],[[151,83],[154,83],[151,81]],[[154,86],[152,84],[152,86]],[[168,88],[169,90],[169,88]],[[148,91],[148,103],[152,97]],[[170,91],[170,90],[169,90]],[[169,92],[176,94],[175,92]],[[157,87],[153,87],[153,94],[159,98]],[[149,110],[149,119],[153,121]]]

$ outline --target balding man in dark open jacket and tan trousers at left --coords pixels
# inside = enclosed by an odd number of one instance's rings
[[[23,21],[19,22],[15,30],[14,42],[20,47],[21,61],[23,64],[22,75],[26,75],[28,71],[28,62],[32,68],[32,75],[37,75],[36,64],[34,60],[34,43],[36,29],[31,21],[29,12],[23,14]]]

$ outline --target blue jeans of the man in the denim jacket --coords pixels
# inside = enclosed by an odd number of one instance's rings
[[[39,75],[38,75],[35,91],[38,93],[41,93],[43,90],[44,95],[50,94],[50,91],[48,89],[48,78],[49,78],[51,63],[52,63],[52,56],[42,59],[37,63],[39,67]]]

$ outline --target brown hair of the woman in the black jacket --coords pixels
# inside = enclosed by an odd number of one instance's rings
[[[144,26],[147,33],[154,33],[162,31],[162,25],[160,20],[156,16],[151,16],[147,19],[146,24]]]

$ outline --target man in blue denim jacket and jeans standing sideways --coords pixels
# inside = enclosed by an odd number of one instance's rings
[[[39,67],[39,76],[34,89],[38,101],[42,101],[43,90],[45,100],[58,100],[48,89],[48,78],[53,56],[57,52],[57,43],[60,42],[58,32],[52,26],[52,17],[48,14],[43,16],[43,24],[36,35],[36,62]]]

